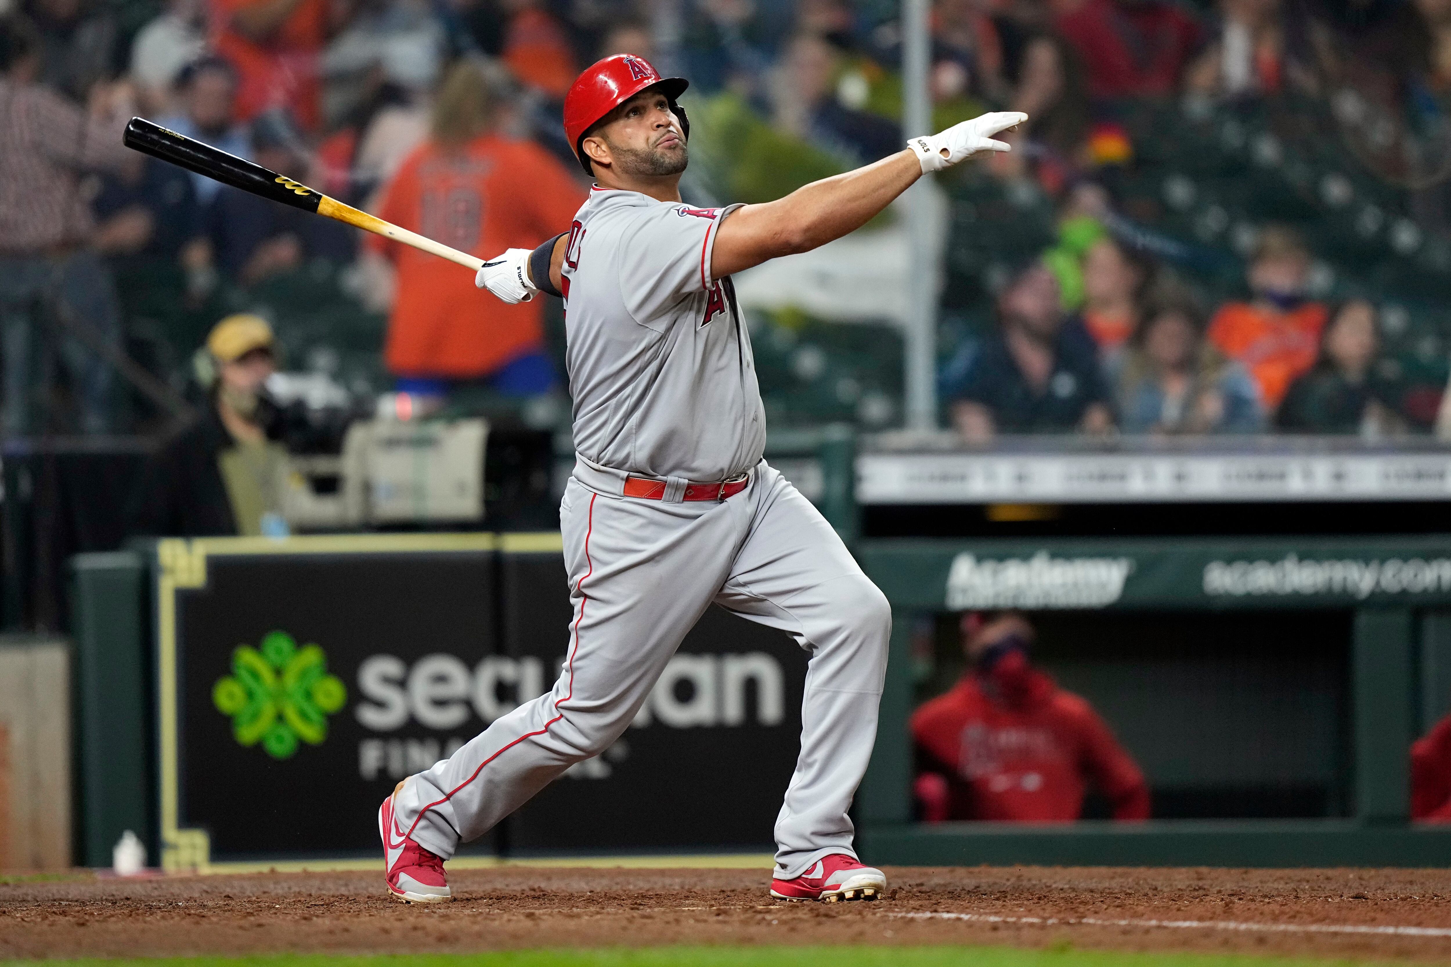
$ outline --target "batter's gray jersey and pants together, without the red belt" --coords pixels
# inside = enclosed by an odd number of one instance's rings
[[[712,603],[810,655],[801,757],[776,876],[856,855],[847,809],[876,736],[891,609],[821,513],[762,460],[765,415],[730,280],[710,274],[730,209],[595,188],[564,261],[579,461],[560,503],[573,613],[554,687],[496,719],[395,800],[399,834],[448,858],[630,726]],[[715,481],[724,500],[624,496],[630,473]],[[712,790],[728,796],[731,790]]]

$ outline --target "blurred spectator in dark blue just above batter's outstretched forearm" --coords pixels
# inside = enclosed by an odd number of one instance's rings
[[[815,33],[798,33],[786,45],[772,86],[776,129],[837,155],[852,168],[901,151],[898,125],[852,110],[837,99],[839,61],[837,49]]]

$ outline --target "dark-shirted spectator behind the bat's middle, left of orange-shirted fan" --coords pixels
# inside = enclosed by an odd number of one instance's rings
[[[308,177],[300,136],[283,112],[268,112],[251,126],[257,164],[299,181]],[[300,209],[223,187],[206,212],[207,236],[218,268],[244,286],[290,273],[313,258],[351,261],[351,229]]]

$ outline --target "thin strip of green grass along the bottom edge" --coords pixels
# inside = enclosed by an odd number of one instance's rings
[[[167,957],[0,961],[0,967],[1371,967],[1367,960],[1008,947],[647,947],[483,954]]]

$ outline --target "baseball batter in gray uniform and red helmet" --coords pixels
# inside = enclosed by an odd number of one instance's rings
[[[776,819],[770,895],[875,899],[847,808],[876,736],[891,612],[826,519],[762,460],[765,415],[733,273],[865,225],[927,171],[1026,120],[984,115],[768,204],[679,194],[682,78],[609,57],[575,81],[564,132],[595,178],[570,231],[476,280],[505,302],[560,294],[576,464],[560,502],[573,616],[554,689],[496,719],[379,810],[387,889],[450,899],[443,864],[636,718],[714,602],[810,654],[801,757]],[[718,790],[730,794],[728,789]]]

